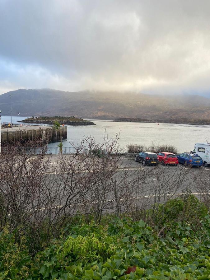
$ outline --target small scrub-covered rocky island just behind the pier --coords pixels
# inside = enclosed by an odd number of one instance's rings
[[[82,118],[76,118],[74,116],[71,117],[60,117],[60,116],[54,116],[54,117],[32,117],[28,119],[24,119],[19,121],[20,123],[27,123],[27,124],[54,124],[54,122],[57,121],[60,124],[64,125],[96,125],[91,121],[82,119]]]

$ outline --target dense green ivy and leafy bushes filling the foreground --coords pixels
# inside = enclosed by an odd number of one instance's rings
[[[59,239],[51,240],[33,258],[24,234],[4,229],[0,279],[209,279],[210,216],[206,212],[203,203],[189,194],[157,207],[162,229],[112,216],[109,225],[107,218],[103,225],[86,224],[82,215],[77,216]],[[186,220],[181,221],[181,216]]]

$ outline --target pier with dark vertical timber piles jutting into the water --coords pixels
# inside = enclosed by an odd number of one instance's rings
[[[27,143],[35,139],[42,139],[42,144],[48,142],[58,142],[67,139],[67,126],[60,127],[59,130],[48,126],[24,126],[1,129],[2,147],[11,146],[15,143]]]

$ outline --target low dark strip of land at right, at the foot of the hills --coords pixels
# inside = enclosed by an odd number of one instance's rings
[[[119,118],[113,120],[113,122],[126,122],[126,123],[164,123],[164,124],[194,124],[194,125],[210,125],[209,119],[140,119],[140,118]]]

